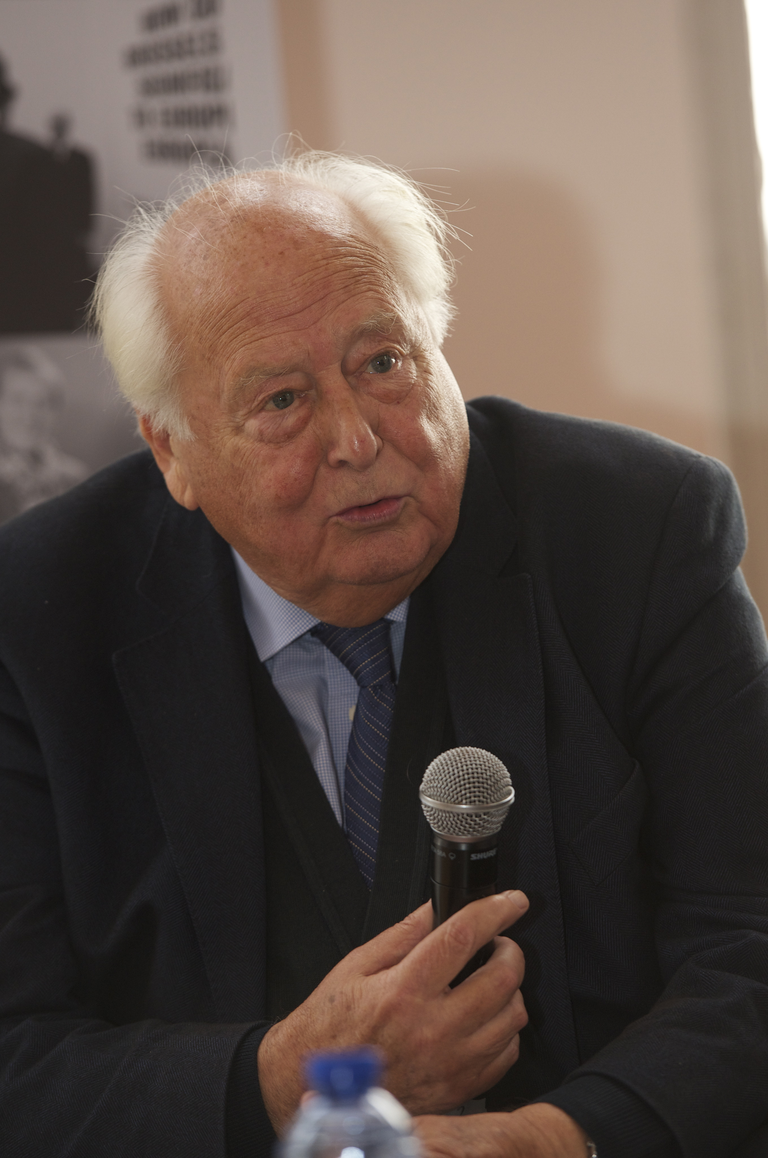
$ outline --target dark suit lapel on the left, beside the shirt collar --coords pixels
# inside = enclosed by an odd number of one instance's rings
[[[264,868],[248,653],[229,549],[200,512],[168,500],[138,591],[154,633],[139,624],[115,672],[219,1017],[252,1020],[264,1007]]]

